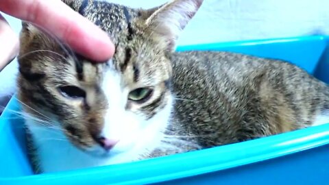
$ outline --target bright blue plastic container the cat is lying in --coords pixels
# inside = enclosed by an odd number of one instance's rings
[[[329,82],[326,36],[179,47],[288,60]],[[108,167],[32,175],[12,99],[0,117],[0,184],[328,184],[329,124]]]

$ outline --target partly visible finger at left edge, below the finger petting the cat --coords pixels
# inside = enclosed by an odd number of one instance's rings
[[[0,71],[19,52],[19,38],[0,14]]]

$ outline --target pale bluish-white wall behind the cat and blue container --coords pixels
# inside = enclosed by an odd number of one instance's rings
[[[166,0],[108,0],[133,8],[152,8]],[[178,43],[190,45],[329,34],[328,0],[204,0]],[[21,23],[6,16],[15,32]],[[0,43],[1,44],[1,43]],[[14,93],[16,61],[0,73],[1,97]]]

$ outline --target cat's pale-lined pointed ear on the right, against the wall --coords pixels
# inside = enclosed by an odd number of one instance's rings
[[[145,23],[151,33],[162,39],[169,51],[173,51],[180,32],[199,10],[202,2],[203,0],[175,0],[160,8],[147,10],[154,12]]]

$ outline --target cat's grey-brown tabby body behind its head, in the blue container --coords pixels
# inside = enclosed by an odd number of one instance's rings
[[[329,89],[299,67],[239,53],[174,53],[176,122],[212,146],[296,130],[329,108]],[[211,140],[208,143],[207,140]]]

